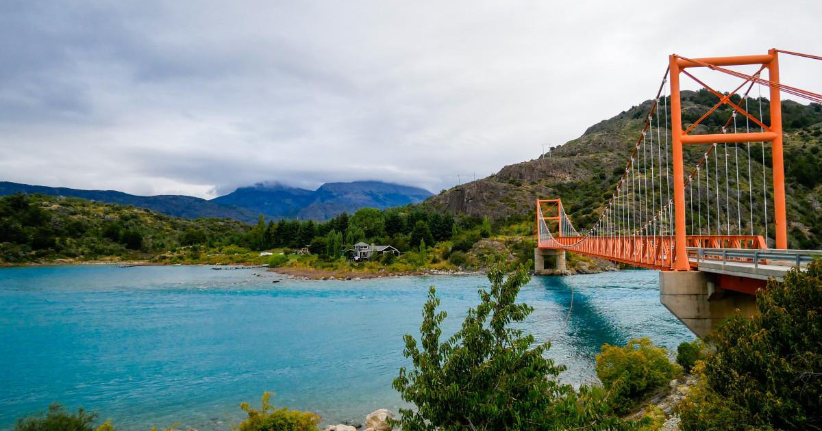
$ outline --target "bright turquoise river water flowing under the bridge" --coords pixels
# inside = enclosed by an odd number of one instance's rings
[[[404,406],[391,388],[405,333],[418,336],[427,287],[459,328],[483,276],[301,281],[262,269],[82,265],[0,269],[0,429],[59,401],[123,431],[229,429],[239,403],[363,421]],[[279,280],[279,282],[274,282]],[[534,277],[524,328],[568,370],[593,382],[604,343],[650,337],[674,349],[693,335],[659,304],[645,270]]]

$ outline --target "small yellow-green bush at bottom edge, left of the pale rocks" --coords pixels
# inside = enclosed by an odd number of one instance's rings
[[[270,404],[270,393],[262,394],[261,410],[254,410],[247,402],[240,408],[248,418],[243,420],[238,431],[316,431],[320,416],[299,410],[275,409]]]

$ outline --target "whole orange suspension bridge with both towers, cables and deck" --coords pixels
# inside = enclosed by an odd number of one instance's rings
[[[738,57],[672,55],[611,199],[596,210],[597,221],[580,233],[561,197],[538,199],[537,251],[568,250],[663,272],[699,270],[715,274],[713,286],[749,294],[768,277],[781,280],[787,268],[820,254],[787,250],[781,95],[822,103],[822,94],[781,83],[780,54],[822,61],[778,49]],[[721,92],[696,70],[741,82]],[[693,107],[682,107],[682,77],[716,101],[690,124],[683,124],[684,111],[695,116]],[[718,133],[709,133],[705,120],[726,115],[724,126],[714,126]]]

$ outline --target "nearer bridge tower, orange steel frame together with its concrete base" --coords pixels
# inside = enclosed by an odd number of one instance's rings
[[[685,171],[682,160],[683,145],[690,144],[732,144],[751,141],[770,142],[772,153],[772,172],[774,186],[774,226],[776,231],[776,248],[787,249],[787,222],[785,217],[785,176],[783,164],[782,103],[779,94],[779,59],[776,49],[765,55],[737,57],[708,57],[689,59],[677,56],[669,57],[671,82],[671,135],[673,158],[674,190],[674,241],[675,257],[673,270],[663,270],[659,274],[659,300],[677,316],[682,323],[698,336],[710,332],[717,323],[728,316],[741,312],[744,315],[755,313],[755,296],[726,291],[718,285],[728,282],[739,282],[737,277],[724,277],[691,270],[686,239],[686,202]],[[711,70],[723,66],[760,65],[768,70],[770,89],[770,126],[762,127],[759,132],[723,133],[707,135],[690,135],[682,130],[682,112],[680,97],[680,74],[690,78],[708,89],[719,99],[717,107],[731,105],[737,112],[750,115],[732,102],[731,95],[720,94],[686,71],[692,67],[707,67]],[[748,77],[753,79],[752,76]],[[714,108],[715,109],[715,108]],[[706,114],[707,115],[707,114]],[[698,122],[697,122],[698,123]],[[765,245],[767,247],[767,245]],[[750,282],[750,281],[749,281]],[[761,282],[760,282],[761,283]]]

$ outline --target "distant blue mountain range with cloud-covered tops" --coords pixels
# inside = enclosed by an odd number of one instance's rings
[[[66,187],[31,186],[0,181],[0,195],[40,193],[96,200],[110,204],[133,205],[184,218],[234,218],[256,222],[259,214],[266,218],[302,218],[326,220],[347,211],[373,207],[416,204],[431,196],[428,190],[381,181],[333,182],[317,190],[305,190],[279,183],[259,183],[240,187],[215,199],[186,195],[129,195],[117,190],[79,190]]]

